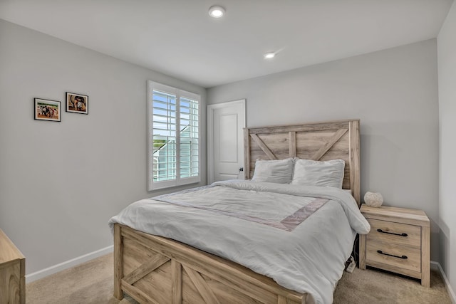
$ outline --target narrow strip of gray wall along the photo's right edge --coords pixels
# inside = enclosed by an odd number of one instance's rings
[[[456,4],[437,37],[440,110],[440,263],[456,291]]]

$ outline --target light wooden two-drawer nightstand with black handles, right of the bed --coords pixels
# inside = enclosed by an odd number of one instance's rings
[[[400,273],[430,286],[430,222],[422,210],[361,206],[371,224],[359,238],[359,268]]]

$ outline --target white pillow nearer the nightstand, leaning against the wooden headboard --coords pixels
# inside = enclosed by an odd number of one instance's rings
[[[296,159],[291,184],[342,188],[344,167],[343,159],[332,159],[326,162]]]

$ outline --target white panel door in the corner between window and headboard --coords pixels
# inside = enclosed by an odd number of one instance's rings
[[[245,99],[207,106],[209,184],[244,179]]]

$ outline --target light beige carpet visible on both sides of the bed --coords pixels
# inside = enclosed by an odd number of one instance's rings
[[[438,303],[450,304],[445,284],[431,273],[431,287],[392,273],[356,268],[343,273],[334,303]],[[108,254],[26,285],[28,304],[136,304],[132,298],[113,297],[113,256]]]

